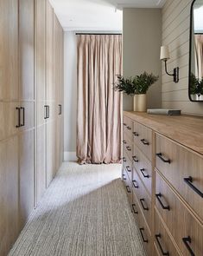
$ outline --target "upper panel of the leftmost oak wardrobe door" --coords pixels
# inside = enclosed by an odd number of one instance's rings
[[[0,1],[0,101],[18,100],[18,0]]]

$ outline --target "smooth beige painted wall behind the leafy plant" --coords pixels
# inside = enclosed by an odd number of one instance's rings
[[[140,75],[143,71],[160,75],[149,89],[148,108],[162,105],[162,10],[124,9],[124,76]],[[132,97],[124,95],[124,110],[132,110]]]

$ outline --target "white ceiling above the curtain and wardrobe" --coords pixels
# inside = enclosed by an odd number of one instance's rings
[[[121,31],[123,8],[162,8],[165,0],[49,0],[64,30]]]

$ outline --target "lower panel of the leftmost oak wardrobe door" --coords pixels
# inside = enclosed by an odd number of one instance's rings
[[[18,137],[0,143],[0,255],[7,255],[19,232]]]

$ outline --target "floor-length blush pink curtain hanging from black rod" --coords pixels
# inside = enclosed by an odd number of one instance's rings
[[[77,157],[79,163],[121,160],[122,36],[78,36]]]

